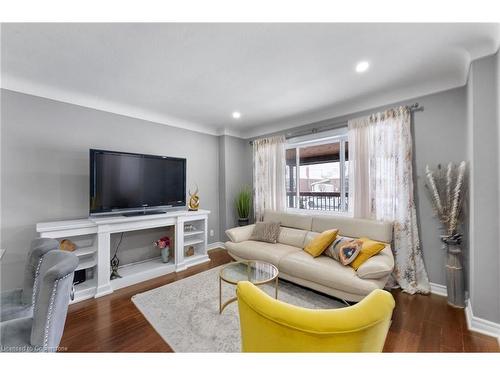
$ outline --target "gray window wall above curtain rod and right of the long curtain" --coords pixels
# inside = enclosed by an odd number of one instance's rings
[[[431,282],[445,285],[445,253],[439,240],[438,221],[434,217],[425,189],[425,166],[459,162],[467,159],[466,152],[466,88],[460,87],[383,107],[371,108],[347,116],[337,117],[315,124],[289,129],[286,133],[303,131],[329,124],[345,123],[347,120],[371,114],[396,105],[410,105],[415,102],[424,107],[423,112],[413,114],[413,154],[416,176],[415,200],[420,229],[420,240],[424,262]],[[467,253],[467,245],[465,245]],[[467,267],[467,264],[466,264]]]

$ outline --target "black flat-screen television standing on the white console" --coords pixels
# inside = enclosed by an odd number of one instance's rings
[[[90,149],[90,215],[186,205],[186,159]]]

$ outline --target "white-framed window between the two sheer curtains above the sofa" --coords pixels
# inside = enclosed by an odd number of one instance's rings
[[[347,129],[321,139],[292,140],[286,149],[287,207],[348,210]]]

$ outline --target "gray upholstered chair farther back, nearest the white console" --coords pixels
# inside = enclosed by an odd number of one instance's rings
[[[59,242],[51,238],[37,238],[31,242],[24,267],[23,288],[0,294],[0,322],[33,315],[33,286],[37,271],[44,255],[58,247]]]

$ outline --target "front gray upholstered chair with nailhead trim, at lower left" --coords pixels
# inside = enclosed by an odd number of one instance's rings
[[[0,323],[0,348],[4,352],[57,351],[66,322],[78,257],[60,250],[42,260],[35,288],[33,317]]]

